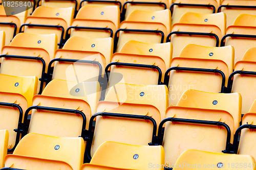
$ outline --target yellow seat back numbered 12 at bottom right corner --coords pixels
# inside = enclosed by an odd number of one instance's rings
[[[255,169],[254,164],[255,160],[249,155],[187,150],[181,154],[173,169]]]

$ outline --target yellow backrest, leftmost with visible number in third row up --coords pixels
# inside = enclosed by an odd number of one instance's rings
[[[55,34],[19,33],[13,38],[10,46],[43,48],[49,53],[50,60],[52,60],[57,50],[57,36]]]

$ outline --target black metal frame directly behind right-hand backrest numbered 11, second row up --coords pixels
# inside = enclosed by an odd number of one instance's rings
[[[222,83],[221,83],[221,92],[223,93],[225,90],[225,75],[221,70],[218,69],[205,69],[205,68],[188,68],[188,67],[170,67],[169,69],[166,70],[165,74],[164,74],[164,82],[163,84],[165,84],[168,87],[169,84],[169,72],[172,70],[183,70],[183,71],[198,71],[198,72],[213,72],[213,73],[218,73],[221,75],[222,77]]]

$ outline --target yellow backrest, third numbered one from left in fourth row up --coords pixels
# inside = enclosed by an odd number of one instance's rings
[[[161,11],[140,11],[135,10],[125,19],[126,21],[138,21],[138,22],[160,22],[167,29],[167,34],[170,33],[170,27],[172,26],[172,17],[170,10]]]

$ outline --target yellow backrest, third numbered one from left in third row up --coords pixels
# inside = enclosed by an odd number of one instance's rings
[[[167,70],[173,56],[173,44],[170,42],[146,43],[131,40],[123,44],[120,53],[159,56],[164,60],[165,70]]]

